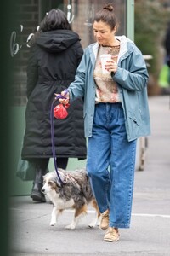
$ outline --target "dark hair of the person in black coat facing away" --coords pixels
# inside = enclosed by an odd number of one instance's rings
[[[60,9],[51,9],[40,23],[39,30],[47,32],[56,29],[68,29],[71,30],[65,13]]]

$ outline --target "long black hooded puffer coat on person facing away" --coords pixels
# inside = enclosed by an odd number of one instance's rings
[[[27,67],[26,131],[22,159],[50,158],[52,154],[50,108],[54,93],[65,90],[75,79],[82,59],[76,32],[43,32],[31,46]],[[82,99],[71,102],[66,119],[54,119],[54,142],[58,157],[85,159]]]

